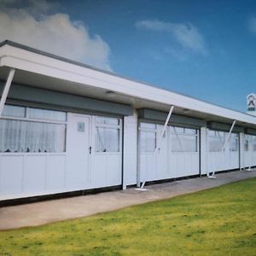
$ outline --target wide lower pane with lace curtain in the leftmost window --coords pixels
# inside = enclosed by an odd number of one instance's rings
[[[0,141],[0,152],[64,152],[66,125],[2,119]]]

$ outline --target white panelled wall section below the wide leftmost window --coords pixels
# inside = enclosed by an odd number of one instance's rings
[[[0,154],[0,200],[63,191],[66,154]]]

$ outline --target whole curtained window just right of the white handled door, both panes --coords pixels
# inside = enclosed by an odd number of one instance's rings
[[[120,120],[96,117],[96,152],[119,152]]]

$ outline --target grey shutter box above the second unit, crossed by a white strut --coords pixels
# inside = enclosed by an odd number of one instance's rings
[[[160,112],[152,109],[138,110],[138,117],[140,119],[150,119],[154,121],[165,122],[167,115],[168,113]],[[174,113],[172,114],[169,123],[178,124],[178,125],[192,125],[192,126],[198,126],[198,127],[207,125],[207,122],[202,119],[195,119],[195,118],[186,117],[183,115],[177,115]]]

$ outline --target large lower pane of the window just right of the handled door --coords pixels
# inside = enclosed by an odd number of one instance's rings
[[[119,152],[119,129],[96,127],[96,152]]]

